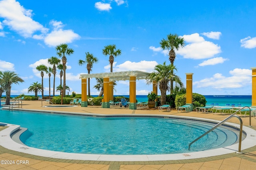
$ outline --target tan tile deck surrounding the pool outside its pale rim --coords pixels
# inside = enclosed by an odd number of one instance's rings
[[[45,104],[43,104],[45,105]],[[201,117],[206,119],[223,120],[228,115],[213,115],[212,113],[197,113],[195,111],[177,112],[171,111],[158,111],[156,110],[130,110],[127,108],[120,108],[112,106],[110,109],[103,109],[98,106],[89,107],[41,107],[40,101],[24,101],[23,109],[36,109],[36,110],[52,110],[52,111],[70,111],[82,113],[98,113],[98,114],[161,114],[161,115],[178,115]],[[249,117],[241,117],[244,126],[249,125]],[[239,123],[238,119],[230,119],[232,123]],[[251,119],[252,129],[256,130],[256,119]],[[0,131],[7,127],[0,127]],[[256,139],[255,139],[256,140]],[[169,169],[182,169],[182,170],[209,170],[209,169],[223,169],[223,170],[251,170],[256,169],[256,146],[246,150],[242,150],[244,154],[230,153],[220,156],[211,156],[206,158],[197,158],[189,160],[168,160],[168,161],[87,161],[87,160],[68,160],[47,158],[42,156],[35,156],[16,152],[0,146],[0,160],[14,160],[15,164],[0,164],[0,169],[36,169],[36,170],[57,170],[57,169],[86,169],[86,170],[169,170]],[[25,160],[25,161],[20,161]],[[17,164],[17,161],[19,164]],[[26,164],[26,161],[28,164]]]

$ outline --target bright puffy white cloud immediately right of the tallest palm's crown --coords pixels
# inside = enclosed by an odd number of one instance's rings
[[[198,33],[182,36],[188,45],[176,51],[176,54],[182,55],[185,59],[207,59],[221,53],[220,46],[205,41]]]

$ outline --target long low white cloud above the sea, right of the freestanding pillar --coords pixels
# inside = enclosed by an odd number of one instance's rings
[[[211,78],[205,78],[193,84],[196,88],[230,89],[241,88],[252,83],[252,71],[249,69],[235,68],[229,73],[231,74],[229,77],[216,73]]]

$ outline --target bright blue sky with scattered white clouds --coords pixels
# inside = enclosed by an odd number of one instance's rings
[[[12,95],[34,95],[28,87],[41,83],[36,66],[50,66],[47,59],[58,57],[56,45],[67,43],[74,54],[67,57],[66,84],[71,92],[81,93],[79,76],[87,70],[78,60],[84,60],[86,52],[99,60],[91,73],[110,72],[102,49],[111,44],[122,50],[113,71],[152,72],[156,64],[170,63],[160,41],[176,33],[186,43],[174,61],[185,86],[185,73],[192,72],[193,92],[251,95],[255,18],[255,0],[0,0],[0,70],[14,71],[25,81],[12,86]],[[49,94],[48,80],[44,74],[44,94]],[[52,84],[53,76],[51,94]],[[92,88],[95,84],[92,79],[91,95],[98,94]],[[114,95],[128,95],[129,82],[118,81],[116,90]],[[137,95],[146,95],[152,85],[140,80],[136,90]]]

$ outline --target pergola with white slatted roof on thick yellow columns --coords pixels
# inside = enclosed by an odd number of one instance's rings
[[[104,72],[96,74],[80,74],[82,79],[82,102],[81,107],[87,107],[87,78],[103,78],[104,96],[102,99],[102,108],[110,108],[110,100],[114,100],[113,89],[114,81],[130,81],[130,104],[129,109],[136,109],[136,80],[146,79],[150,73],[142,71],[122,71],[122,72]],[[157,87],[153,83],[153,92],[157,94]]]

